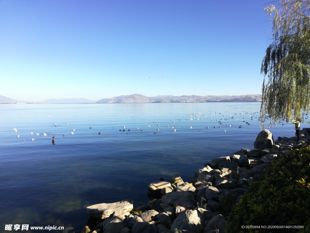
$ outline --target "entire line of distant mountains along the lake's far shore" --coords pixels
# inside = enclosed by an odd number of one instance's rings
[[[193,102],[260,102],[261,94],[252,95],[158,95],[147,97],[141,94],[121,95],[93,101],[85,98],[46,99],[40,103],[193,103]],[[0,103],[27,103],[0,95]]]

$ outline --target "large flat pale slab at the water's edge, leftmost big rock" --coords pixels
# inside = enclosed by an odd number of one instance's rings
[[[126,216],[133,209],[134,201],[124,199],[115,203],[101,203],[86,207],[86,213],[99,219],[108,217]]]

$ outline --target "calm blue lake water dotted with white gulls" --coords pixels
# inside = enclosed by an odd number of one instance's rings
[[[260,103],[0,104],[0,232],[9,232],[7,224],[78,231],[87,223],[87,206],[122,199],[147,204],[147,186],[160,177],[169,181],[178,173],[187,181],[212,158],[253,149],[261,131],[259,108]],[[269,130],[274,139],[294,136],[290,123]]]

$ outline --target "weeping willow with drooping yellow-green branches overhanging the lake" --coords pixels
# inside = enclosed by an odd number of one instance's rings
[[[273,22],[261,73],[261,127],[302,119],[310,110],[310,0],[272,2],[264,11]]]

